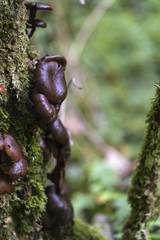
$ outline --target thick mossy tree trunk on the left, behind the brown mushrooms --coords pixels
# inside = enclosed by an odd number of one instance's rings
[[[41,213],[47,201],[46,179],[39,146],[43,124],[27,104],[33,79],[28,74],[28,57],[37,57],[26,34],[27,11],[22,0],[0,1],[0,138],[12,135],[22,148],[28,172],[14,182],[10,194],[0,195],[0,239],[51,239],[41,226]],[[85,224],[77,223],[65,239],[102,240]],[[64,239],[63,238],[63,239]]]

